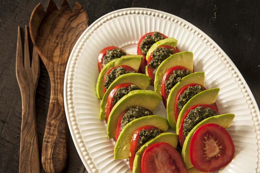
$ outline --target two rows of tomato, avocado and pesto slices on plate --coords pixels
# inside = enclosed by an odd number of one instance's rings
[[[134,173],[211,172],[226,166],[235,147],[226,131],[235,115],[220,114],[219,88],[205,88],[194,72],[193,53],[159,32],[144,34],[137,55],[109,46],[98,56],[96,94],[115,159],[128,159]],[[143,74],[142,74],[143,73]],[[147,90],[152,84],[154,91]],[[153,115],[163,101],[167,119]],[[168,127],[176,134],[166,132]],[[176,150],[180,146],[181,154]]]

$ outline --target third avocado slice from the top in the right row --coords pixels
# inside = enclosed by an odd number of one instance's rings
[[[175,100],[177,97],[178,92],[184,86],[192,83],[200,84],[205,86],[205,73],[204,72],[195,72],[189,74],[181,79],[170,91],[168,99],[167,99],[167,118],[170,126],[175,129],[176,128],[176,121],[175,121]]]

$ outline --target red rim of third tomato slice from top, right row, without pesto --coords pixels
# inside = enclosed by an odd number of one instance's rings
[[[183,66],[175,66],[168,69],[164,74],[164,77],[161,81],[161,97],[163,98],[163,103],[165,108],[167,106],[167,98],[168,98],[168,94],[166,93],[166,89],[165,89],[165,82],[169,79],[169,77],[172,75],[174,70],[183,70],[183,69],[187,71],[187,68]]]

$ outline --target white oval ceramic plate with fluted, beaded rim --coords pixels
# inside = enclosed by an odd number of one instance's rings
[[[193,52],[194,69],[205,72],[206,88],[220,88],[216,101],[220,114],[235,114],[227,129],[235,144],[235,157],[218,172],[260,172],[259,108],[239,70],[194,25],[172,14],[146,8],[121,9],[102,16],[84,31],[70,54],[64,81],[65,110],[71,136],[88,172],[130,172],[128,159],[113,158],[115,142],[107,139],[106,123],[99,119],[98,54],[107,46],[136,54],[138,40],[151,31],[174,37],[179,50]],[[162,103],[154,114],[166,117]]]

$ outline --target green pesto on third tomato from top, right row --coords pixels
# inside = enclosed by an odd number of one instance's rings
[[[174,70],[173,73],[170,75],[168,80],[165,81],[165,89],[167,95],[169,95],[172,87],[181,81],[181,79],[187,75],[191,74],[189,70]]]

